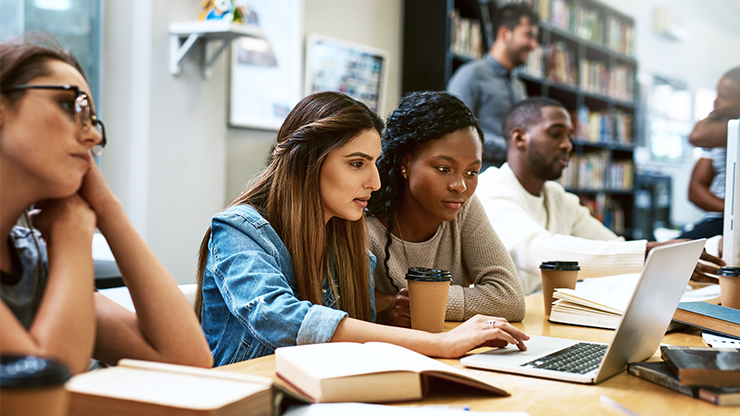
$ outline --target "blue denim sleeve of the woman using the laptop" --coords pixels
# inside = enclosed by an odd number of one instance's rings
[[[236,214],[212,221],[213,275],[227,308],[270,348],[328,342],[347,314],[298,299],[290,257],[266,224]]]

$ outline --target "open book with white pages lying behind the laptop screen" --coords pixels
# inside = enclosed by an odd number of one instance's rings
[[[575,289],[555,289],[550,322],[616,329],[637,286],[640,273],[585,279]],[[684,293],[681,302],[719,303],[719,285]],[[681,324],[671,322],[668,330]]]

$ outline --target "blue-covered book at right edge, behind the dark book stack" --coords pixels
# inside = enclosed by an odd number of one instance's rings
[[[708,303],[681,302],[673,320],[720,334],[740,337],[740,310]]]

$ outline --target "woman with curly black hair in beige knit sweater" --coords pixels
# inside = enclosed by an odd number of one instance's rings
[[[475,314],[524,318],[514,263],[473,195],[483,152],[478,120],[457,97],[414,92],[388,117],[369,201],[378,321],[409,326],[405,273],[452,272],[448,321]]]

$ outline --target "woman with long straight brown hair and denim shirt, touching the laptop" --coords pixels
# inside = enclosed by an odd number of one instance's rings
[[[527,335],[500,318],[479,315],[443,334],[372,323],[375,258],[363,210],[380,187],[382,130],[377,115],[344,94],[304,98],[278,131],[267,168],[213,217],[196,312],[216,365],[329,341],[385,341],[439,357],[525,348]]]

